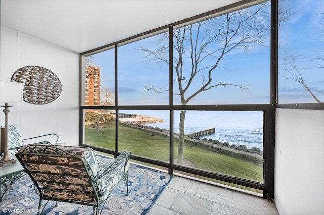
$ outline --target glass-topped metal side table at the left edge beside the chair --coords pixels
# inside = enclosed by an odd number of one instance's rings
[[[15,156],[12,157],[17,159]],[[6,164],[0,167],[0,204],[2,202],[2,197],[11,185],[24,175],[26,175],[26,173],[18,160],[16,164]],[[4,188],[2,188],[2,186],[4,186]]]

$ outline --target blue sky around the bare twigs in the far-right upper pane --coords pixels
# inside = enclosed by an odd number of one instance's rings
[[[324,31],[320,24],[324,23],[324,2],[315,0],[289,2],[296,14],[292,19],[280,23],[280,58],[283,57],[283,49],[300,56],[300,58],[296,58],[296,66],[300,69],[306,84],[313,90],[324,92],[324,62],[311,61],[311,58],[316,58],[318,55],[324,57]],[[322,67],[303,69],[316,67],[318,64],[321,64]],[[281,62],[279,69],[282,71],[284,68]],[[279,79],[279,102],[315,102],[301,84],[282,78],[292,77],[291,75],[287,72],[281,72],[281,75]],[[316,96],[324,101],[322,95],[317,93]]]

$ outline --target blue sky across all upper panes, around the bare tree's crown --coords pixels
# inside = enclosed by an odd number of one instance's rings
[[[292,19],[280,23],[279,42],[282,58],[282,49],[296,51],[298,55],[308,58],[314,53],[324,50],[324,32],[319,31],[319,21],[324,23],[323,5],[320,1],[285,1],[293,4],[296,10]],[[270,33],[269,33],[270,36]],[[149,63],[144,61],[145,53],[138,50],[141,46],[154,48],[159,36],[139,40],[118,48],[118,103],[119,105],[149,105],[168,104],[169,92],[143,92],[145,86],[163,87],[169,82],[168,65]],[[242,50],[235,50],[227,55],[220,64],[225,69],[215,71],[215,83],[250,85],[249,92],[242,92],[237,87],[217,87],[199,94],[188,104],[242,104],[242,103],[269,103],[269,69],[270,49],[269,38],[264,41],[266,46],[255,45],[248,54]],[[107,50],[93,56],[96,66],[101,68],[101,87],[114,91],[114,50]],[[314,62],[298,61],[299,68],[310,67]],[[324,66],[324,64],[322,64]],[[315,102],[308,92],[297,82],[285,79],[289,74],[284,69],[282,60],[279,60],[279,102]],[[324,91],[324,71],[321,69],[300,70],[308,86],[312,89]],[[195,87],[201,85],[201,77],[194,82]],[[177,87],[176,85],[174,86]],[[324,100],[324,97],[320,97]],[[179,96],[175,96],[174,104],[180,104]]]

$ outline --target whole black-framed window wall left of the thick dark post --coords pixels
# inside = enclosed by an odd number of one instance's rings
[[[80,144],[271,192],[271,7],[255,3],[82,53]]]

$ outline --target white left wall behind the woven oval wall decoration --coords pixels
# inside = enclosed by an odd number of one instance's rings
[[[78,145],[78,65],[78,53],[1,26],[2,81],[10,81],[24,66],[41,66],[55,73],[62,84],[61,95],[51,103],[13,104],[9,124],[15,125],[23,138],[57,133],[60,142]],[[1,113],[0,125],[4,126]]]

